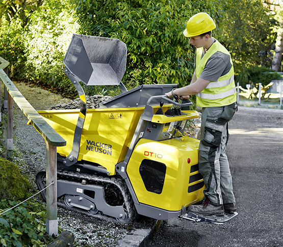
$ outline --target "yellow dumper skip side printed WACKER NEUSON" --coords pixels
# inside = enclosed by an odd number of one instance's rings
[[[115,165],[123,160],[134,135],[143,108],[89,109],[82,131],[78,161],[98,163],[115,174]],[[57,152],[67,157],[72,150],[79,110],[39,111],[46,122],[66,140]]]

